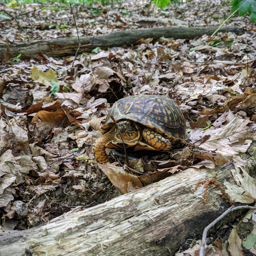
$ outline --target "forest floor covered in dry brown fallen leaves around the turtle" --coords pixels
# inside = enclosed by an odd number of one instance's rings
[[[155,13],[153,4],[137,1],[74,5],[77,29],[68,5],[0,4],[0,43],[77,37],[77,32],[82,37],[153,27],[219,26],[230,14],[230,5],[221,3],[191,1]],[[155,172],[171,175],[187,166],[214,168],[230,161],[236,170],[247,170],[239,155],[250,147],[255,130],[256,27],[249,15],[234,15],[226,26],[243,28],[244,33],[162,37],[156,42],[143,38],[136,45],[108,50],[95,45],[92,53],[76,59],[44,54],[2,59],[1,233],[41,225],[77,206],[91,207],[122,194],[117,188],[121,185],[114,186],[94,160],[92,144],[100,132],[91,129],[90,121],[105,116],[127,95],[170,97],[187,119],[190,141],[217,150],[214,158],[186,157],[183,151],[136,155],[143,163],[162,163],[154,164]],[[110,158],[124,163],[123,156]],[[141,168],[138,161],[133,168]],[[142,180],[148,175],[143,171]],[[250,189],[256,193],[255,185]],[[239,199],[234,193],[231,199],[241,202],[242,192]]]

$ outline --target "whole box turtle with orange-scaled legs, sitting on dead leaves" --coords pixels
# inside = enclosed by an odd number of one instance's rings
[[[112,117],[112,118],[111,118]],[[102,137],[93,145],[98,163],[109,163],[106,148],[134,151],[170,150],[186,140],[186,122],[182,111],[171,99],[159,95],[138,95],[118,100],[110,109]]]

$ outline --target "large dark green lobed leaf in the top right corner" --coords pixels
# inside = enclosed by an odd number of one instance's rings
[[[256,0],[234,0],[230,12],[235,12],[239,9],[239,16],[246,14],[250,15],[251,21],[256,20]]]

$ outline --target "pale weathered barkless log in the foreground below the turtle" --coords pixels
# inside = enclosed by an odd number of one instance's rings
[[[229,163],[218,170],[220,184],[232,179],[231,169]],[[206,204],[202,187],[191,193],[198,181],[215,174],[188,169],[44,226],[5,235],[0,255],[173,255],[187,239],[200,238],[204,227],[229,207],[213,186]]]

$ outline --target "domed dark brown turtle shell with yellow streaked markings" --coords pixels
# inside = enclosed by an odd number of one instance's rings
[[[100,129],[102,134],[107,133],[115,125],[111,116],[115,122],[137,122],[165,138],[187,139],[186,122],[182,111],[173,100],[161,95],[137,95],[116,101]]]

